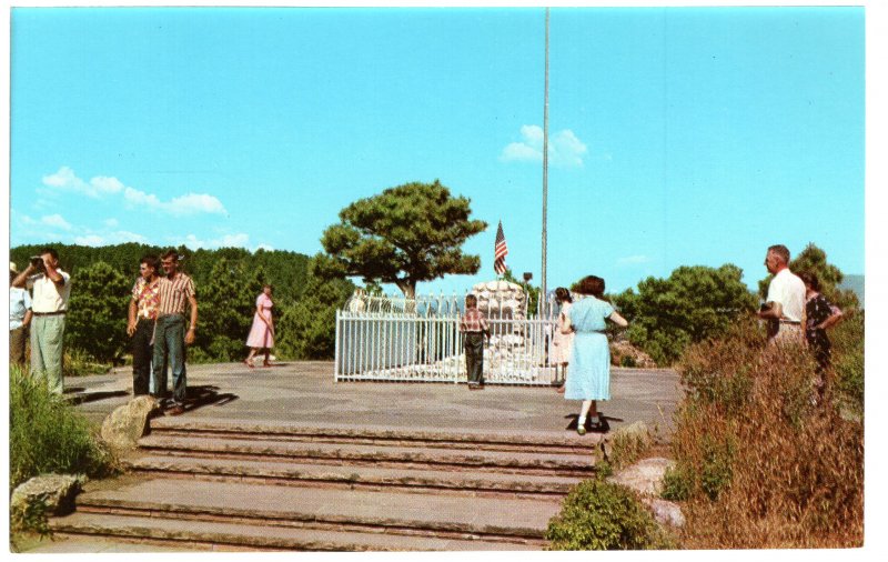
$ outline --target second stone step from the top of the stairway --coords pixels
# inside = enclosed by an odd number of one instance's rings
[[[252,439],[201,438],[199,435],[152,433],[139,440],[139,449],[150,454],[390,468],[435,468],[448,471],[509,472],[579,478],[588,478],[594,471],[592,454],[291,442],[260,439],[259,436]]]

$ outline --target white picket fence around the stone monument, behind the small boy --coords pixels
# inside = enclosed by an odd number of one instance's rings
[[[336,312],[336,381],[466,382],[461,311],[456,301],[435,307],[355,307]],[[545,314],[551,317],[552,314]],[[548,385],[554,321],[488,319],[484,349],[488,383]]]

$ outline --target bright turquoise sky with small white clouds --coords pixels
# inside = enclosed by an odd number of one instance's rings
[[[775,243],[865,272],[864,8],[549,31],[549,289],[724,263],[754,288]],[[438,179],[488,223],[482,265],[417,292],[494,279],[498,221],[538,283],[544,53],[542,8],[14,8],[10,244],[311,255],[349,203]]]

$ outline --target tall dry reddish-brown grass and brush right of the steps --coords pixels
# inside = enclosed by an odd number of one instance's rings
[[[801,348],[764,344],[755,322],[692,345],[664,495],[683,501],[686,549],[854,548],[864,540],[862,317],[834,331],[835,373],[814,394]]]

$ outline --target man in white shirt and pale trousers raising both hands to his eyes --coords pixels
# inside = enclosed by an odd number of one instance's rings
[[[71,295],[71,275],[59,268],[59,253],[43,248],[12,281],[12,287],[27,287],[31,297],[31,375],[46,378],[50,391],[61,394],[62,337],[64,314]]]

